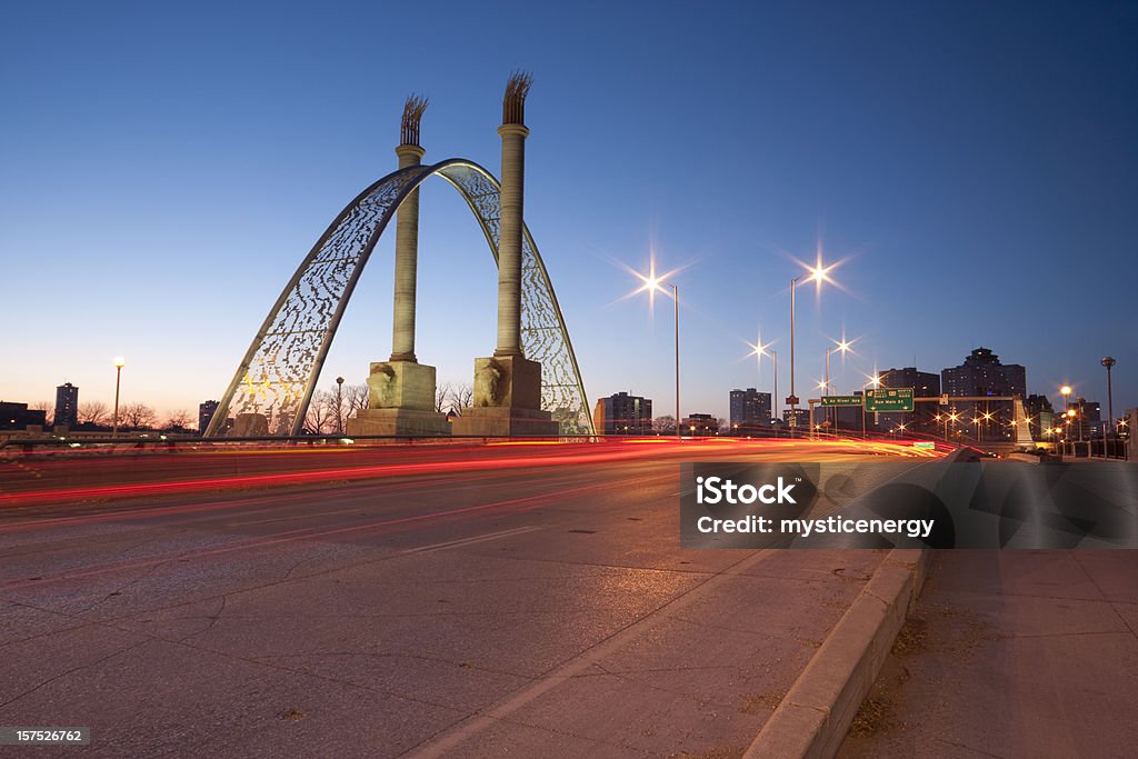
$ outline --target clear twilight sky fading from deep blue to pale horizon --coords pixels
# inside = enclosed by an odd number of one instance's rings
[[[165,7],[160,7],[165,6]],[[673,323],[620,264],[683,266],[683,412],[770,389],[799,299],[798,391],[939,372],[976,346],[1116,414],[1138,405],[1138,3],[3,2],[0,398],[188,409],[224,391],[297,264],[396,167],[407,93],[426,160],[497,173],[511,71],[535,75],[526,221],[589,405],[673,410]],[[321,379],[391,349],[394,224]],[[420,361],[469,382],[496,274],[459,196],[422,192]]]

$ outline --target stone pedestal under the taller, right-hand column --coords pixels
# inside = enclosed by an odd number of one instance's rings
[[[454,435],[556,437],[561,429],[542,411],[542,365],[521,356],[476,358],[473,404],[451,423]]]

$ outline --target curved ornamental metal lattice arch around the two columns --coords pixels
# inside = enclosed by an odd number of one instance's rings
[[[259,414],[269,435],[299,435],[324,357],[352,291],[399,204],[427,178],[450,182],[475,213],[498,256],[498,181],[478,164],[452,158],[388,174],[340,212],[284,286],[222,396],[204,437],[222,437],[226,420]],[[537,245],[522,226],[521,341],[542,364],[542,407],[562,435],[594,435],[569,332]]]

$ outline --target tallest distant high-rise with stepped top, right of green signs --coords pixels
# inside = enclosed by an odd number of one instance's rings
[[[1003,364],[991,348],[976,348],[959,366],[940,373],[948,395],[949,413],[959,416],[957,424],[980,439],[1011,438],[1015,410],[1011,401],[959,401],[984,396],[1026,396],[1026,370],[1021,364]]]

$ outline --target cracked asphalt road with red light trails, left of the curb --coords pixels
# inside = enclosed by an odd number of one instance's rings
[[[679,463],[908,454],[0,460],[0,726],[114,757],[737,754],[884,552],[682,551]]]

